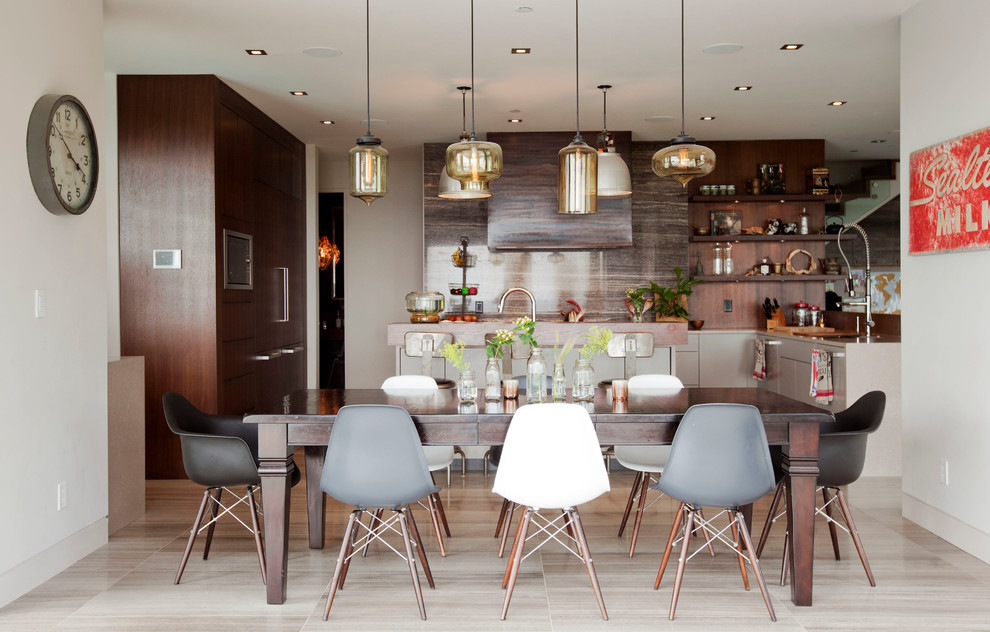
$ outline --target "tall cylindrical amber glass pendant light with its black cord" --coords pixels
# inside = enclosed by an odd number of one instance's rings
[[[577,133],[571,144],[557,153],[557,212],[570,215],[598,212],[598,152],[581,138],[578,42],[578,0],[574,0],[574,101]]]

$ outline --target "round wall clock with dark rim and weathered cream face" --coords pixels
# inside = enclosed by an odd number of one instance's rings
[[[31,110],[28,171],[38,199],[56,215],[81,215],[96,194],[100,156],[93,121],[79,99],[46,94]]]

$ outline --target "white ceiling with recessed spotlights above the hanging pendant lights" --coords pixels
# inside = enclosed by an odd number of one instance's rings
[[[896,158],[899,16],[917,0],[687,0],[686,131],[705,139],[824,138],[830,160]],[[370,0],[372,132],[399,158],[461,129],[470,84],[470,0]],[[104,0],[105,64],[116,74],[216,74],[322,156],[343,159],[366,118],[362,0]],[[532,8],[522,13],[520,6]],[[680,3],[580,2],[581,127],[634,140],[680,131]],[[740,52],[702,49],[732,42]],[[802,43],[796,52],[779,50]],[[510,55],[514,46],[530,55]],[[302,53],[342,51],[335,58]],[[251,57],[247,48],[267,56]],[[737,85],[752,85],[736,92]],[[293,97],[290,90],[309,96]],[[476,0],[475,98],[489,131],[575,125],[574,3]],[[832,100],[848,101],[829,107]],[[470,127],[470,99],[468,101]],[[519,110],[518,113],[510,113]],[[672,117],[660,122],[647,117]],[[712,115],[714,121],[700,121]],[[510,124],[509,118],[523,119]],[[319,124],[333,119],[336,125]],[[595,139],[586,139],[594,144]],[[873,143],[883,140],[883,143]]]

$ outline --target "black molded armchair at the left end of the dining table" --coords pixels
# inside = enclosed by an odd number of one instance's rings
[[[196,536],[207,529],[206,546],[203,549],[203,559],[210,555],[210,544],[213,542],[213,530],[217,520],[226,514],[254,534],[254,543],[258,549],[258,563],[261,566],[261,580],[265,581],[265,549],[261,538],[258,515],[260,513],[255,492],[261,485],[258,475],[258,426],[245,424],[242,417],[236,415],[211,415],[204,413],[189,400],[178,393],[165,393],[162,396],[162,406],[165,409],[165,421],[169,430],[179,436],[182,443],[182,465],[186,475],[194,483],[206,487],[203,501],[199,504],[196,520],[189,532],[186,550],[179,562],[179,570],[175,574],[175,583],[182,579],[182,572],[189,561]],[[299,470],[292,473],[292,484],[299,482]],[[231,491],[231,487],[247,488],[244,495]],[[229,506],[223,504],[223,492],[233,495],[234,502]],[[244,503],[251,514],[251,525],[233,513],[233,509]],[[222,512],[220,510],[223,510]],[[209,522],[203,523],[209,512]]]

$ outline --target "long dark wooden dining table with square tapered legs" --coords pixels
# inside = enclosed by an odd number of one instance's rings
[[[567,401],[570,401],[568,391]],[[783,469],[789,477],[787,537],[791,550],[791,599],[796,605],[812,601],[815,491],[818,477],[818,424],[834,421],[816,408],[765,389],[682,388],[636,391],[625,401],[613,401],[610,391],[597,389],[584,406],[602,445],[669,444],[677,424],[695,404],[738,403],[755,406],[763,417],[767,441],[783,446]],[[288,586],[289,501],[293,448],[303,446],[306,459],[306,498],[309,546],[323,548],[326,496],[320,489],[323,459],[337,412],[354,404],[388,404],[409,411],[424,445],[498,445],[518,407],[518,400],[476,403],[458,401],[453,389],[410,394],[379,389],[308,389],[263,403],[245,423],[258,424],[262,507],[265,516],[268,603],[285,602]],[[750,525],[752,526],[752,525]]]

